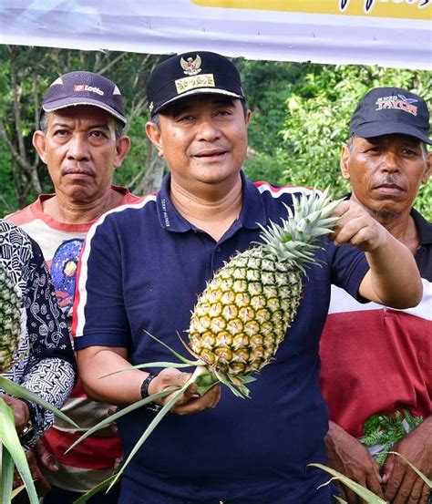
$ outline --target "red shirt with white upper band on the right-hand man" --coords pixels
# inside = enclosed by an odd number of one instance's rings
[[[423,298],[395,310],[356,303],[333,287],[321,338],[321,382],[330,418],[352,436],[364,435],[376,414],[408,409],[432,415],[432,224],[413,209],[420,247],[416,262]]]

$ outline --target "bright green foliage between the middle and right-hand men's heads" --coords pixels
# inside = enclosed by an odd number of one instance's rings
[[[252,179],[330,187],[334,196],[341,195],[349,185],[340,176],[340,151],[348,140],[351,114],[365,93],[373,87],[404,87],[425,98],[429,108],[432,103],[427,71],[306,64],[296,73],[299,66],[293,63],[272,65],[277,78],[264,81],[254,76],[249,95],[255,111],[251,143],[258,147],[246,163]],[[246,86],[249,82],[246,78]],[[416,201],[428,220],[431,197],[429,182]]]

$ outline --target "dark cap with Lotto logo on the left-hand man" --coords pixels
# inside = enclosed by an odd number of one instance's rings
[[[45,112],[74,105],[92,105],[127,123],[121,93],[114,82],[93,72],[70,72],[58,77],[48,90],[42,104]]]

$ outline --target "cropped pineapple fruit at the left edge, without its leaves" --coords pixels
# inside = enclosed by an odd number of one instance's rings
[[[0,268],[0,373],[14,364],[21,333],[21,303],[15,283]]]

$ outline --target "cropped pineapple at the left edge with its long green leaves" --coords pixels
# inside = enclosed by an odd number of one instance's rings
[[[22,307],[17,287],[9,275],[0,268],[0,373],[11,369],[17,361],[21,337]],[[48,404],[24,386],[15,384],[12,380],[0,375],[0,389],[7,394],[21,399],[33,401],[39,406],[49,409],[58,417],[77,427],[56,407]],[[23,479],[31,504],[38,504],[35,484],[28,468],[26,454],[15,429],[15,417],[11,407],[0,397],[0,447],[2,458],[0,463],[0,503],[9,503],[12,499],[12,483],[14,468]]]

